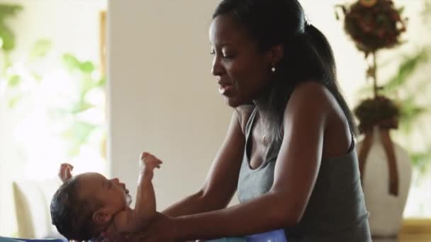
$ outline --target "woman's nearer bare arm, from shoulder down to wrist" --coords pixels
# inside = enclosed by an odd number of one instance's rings
[[[228,209],[177,217],[177,236],[181,240],[241,236],[297,224],[320,168],[330,105],[327,91],[319,84],[298,86],[284,114],[284,140],[271,190]]]

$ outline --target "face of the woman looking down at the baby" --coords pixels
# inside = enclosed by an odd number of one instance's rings
[[[231,107],[250,103],[267,87],[271,76],[270,54],[229,15],[217,16],[209,29],[213,67],[218,91]]]

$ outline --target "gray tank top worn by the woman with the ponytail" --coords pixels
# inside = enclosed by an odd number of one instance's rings
[[[271,144],[262,164],[258,168],[250,168],[247,151],[255,115],[256,110],[253,110],[245,128],[245,151],[237,190],[240,203],[259,197],[272,187],[274,166],[281,146],[281,142]],[[301,221],[296,226],[284,228],[284,231],[289,242],[368,242],[371,241],[368,214],[357,154],[352,144],[347,154],[322,160]]]

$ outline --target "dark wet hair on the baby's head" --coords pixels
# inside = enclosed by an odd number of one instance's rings
[[[68,240],[90,241],[98,237],[101,228],[92,220],[98,202],[79,198],[77,177],[63,183],[51,200],[52,224]]]

